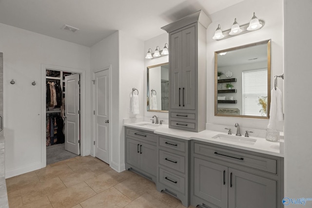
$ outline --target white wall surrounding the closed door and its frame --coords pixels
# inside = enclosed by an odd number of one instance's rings
[[[101,40],[91,47],[91,71],[97,72],[107,66],[111,66],[110,80],[111,80],[111,158],[110,165],[115,170],[119,170],[119,32],[115,32],[111,36]],[[91,81],[90,81],[91,82]],[[90,94],[93,95],[93,88]],[[93,103],[93,96],[92,96]],[[94,106],[92,104],[92,106]],[[93,109],[92,109],[93,111]],[[91,114],[92,123],[93,113]],[[94,127],[94,124],[92,125]],[[93,128],[92,128],[93,135]],[[94,137],[92,136],[92,143]],[[94,145],[92,144],[91,154],[94,156]]]

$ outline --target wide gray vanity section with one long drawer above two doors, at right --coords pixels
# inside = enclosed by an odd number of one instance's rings
[[[199,141],[191,149],[192,206],[281,207],[282,158]]]

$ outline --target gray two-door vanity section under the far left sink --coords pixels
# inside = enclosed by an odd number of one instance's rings
[[[126,170],[131,169],[156,183],[156,135],[125,128]]]

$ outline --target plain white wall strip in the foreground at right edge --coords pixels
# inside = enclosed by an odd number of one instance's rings
[[[285,197],[289,198],[312,197],[311,8],[311,0],[284,0]],[[312,207],[312,202],[305,207]]]

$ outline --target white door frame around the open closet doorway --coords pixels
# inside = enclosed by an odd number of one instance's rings
[[[80,69],[41,64],[41,168],[46,167],[46,70],[73,72],[80,74],[80,155],[86,156],[86,72]]]

